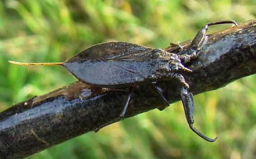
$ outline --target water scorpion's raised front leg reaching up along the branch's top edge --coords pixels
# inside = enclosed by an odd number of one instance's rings
[[[191,56],[191,58],[194,58],[198,55],[199,50],[202,49],[205,42],[207,42],[207,36],[206,32],[208,29],[208,26],[210,25],[218,25],[218,24],[234,24],[237,25],[237,23],[233,20],[222,20],[222,21],[212,21],[204,25],[199,32],[194,37],[193,41],[191,42],[190,50],[188,55]],[[184,63],[189,62],[190,59],[187,59],[187,61],[184,61]]]

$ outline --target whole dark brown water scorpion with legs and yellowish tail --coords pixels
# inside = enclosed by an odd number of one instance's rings
[[[9,63],[21,65],[63,65],[77,79],[86,84],[103,88],[130,88],[128,99],[120,116],[108,123],[118,121],[124,117],[128,109],[133,86],[137,84],[149,84],[165,105],[168,106],[169,102],[163,96],[161,88],[156,85],[156,82],[176,79],[181,83],[181,100],[190,129],[201,138],[214,142],[217,137],[214,139],[208,138],[193,127],[193,95],[189,93],[189,85],[185,82],[182,73],[185,71],[191,72],[183,64],[197,57],[197,53],[202,49],[203,43],[206,42],[207,27],[209,25],[225,23],[237,25],[234,21],[213,21],[207,23],[197,33],[191,42],[190,49],[185,55],[178,55],[162,49],[152,49],[128,42],[106,42],[91,46],[63,63],[18,63],[13,61],[9,61]]]

